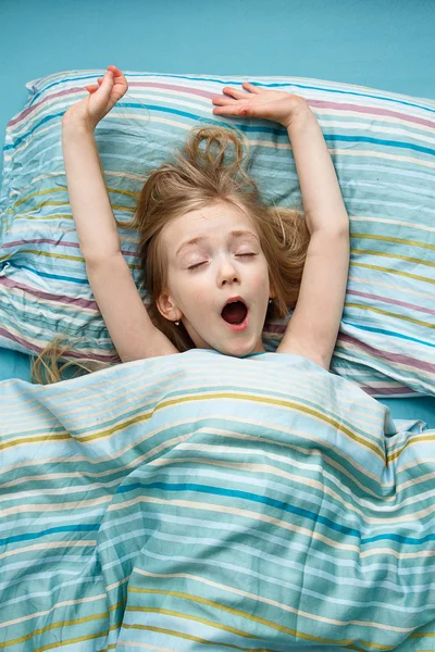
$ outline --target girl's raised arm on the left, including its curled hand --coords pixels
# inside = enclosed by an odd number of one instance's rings
[[[62,148],[70,203],[89,285],[123,362],[178,353],[152,324],[121,253],[121,239],[94,138],[98,122],[125,93],[124,75],[110,66],[100,87],[62,120]],[[117,88],[116,88],[117,86]]]

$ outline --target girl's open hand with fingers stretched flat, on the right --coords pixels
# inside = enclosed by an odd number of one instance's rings
[[[307,100],[299,96],[282,90],[268,90],[248,82],[243,87],[246,92],[225,86],[225,95],[213,96],[211,101],[217,106],[213,109],[213,114],[261,117],[288,127],[296,113],[309,110]]]

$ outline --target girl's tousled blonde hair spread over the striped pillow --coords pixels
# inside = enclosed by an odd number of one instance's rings
[[[244,145],[246,153],[244,153]],[[231,146],[234,153],[228,152]],[[217,202],[228,203],[247,214],[257,226],[268,262],[269,279],[275,298],[268,309],[265,323],[283,318],[298,299],[310,235],[301,211],[265,205],[257,184],[243,170],[249,143],[235,129],[220,126],[195,127],[173,162],[163,163],[147,178],[133,220],[117,226],[136,228],[141,286],[148,292],[149,316],[178,349],[195,348],[182,322],[176,326],[165,319],[157,300],[166,286],[166,261],[161,231],[171,220]],[[229,158],[229,161],[228,161]],[[233,160],[231,160],[233,159]],[[69,349],[57,337],[32,366],[37,383],[58,383],[67,365],[88,372],[111,366],[91,359],[72,359],[59,369],[58,360]],[[67,358],[67,356],[65,356]],[[47,380],[41,374],[45,367]]]

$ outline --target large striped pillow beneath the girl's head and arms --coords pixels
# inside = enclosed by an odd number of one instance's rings
[[[79,337],[71,355],[119,360],[90,290],[69,204],[61,121],[104,71],[29,82],[8,124],[0,193],[0,346],[40,352],[55,335]],[[120,222],[151,170],[199,124],[236,125],[266,202],[301,209],[287,131],[263,120],[212,114],[211,97],[251,80],[304,97],[316,115],[350,217],[347,294],[331,372],[373,397],[435,394],[435,102],[297,77],[214,77],[125,72],[129,89],[96,129]],[[89,220],[92,216],[89,215]],[[139,285],[137,236],[120,229]],[[140,290],[144,301],[146,294]],[[264,330],[274,351],[286,319]]]

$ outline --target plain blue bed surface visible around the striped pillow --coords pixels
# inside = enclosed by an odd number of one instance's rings
[[[434,35],[435,0],[0,0],[0,146],[27,82],[109,64],[311,77],[435,99]],[[26,355],[0,350],[8,376],[27,378]],[[435,427],[435,399],[383,402]]]

